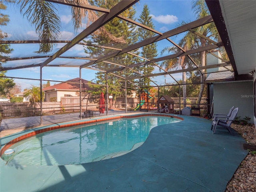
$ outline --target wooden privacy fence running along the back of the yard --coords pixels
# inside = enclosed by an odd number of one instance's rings
[[[174,100],[174,108],[179,108],[179,98],[172,98]],[[191,104],[195,104],[198,98],[187,98]],[[201,100],[201,108],[204,108],[204,102],[206,98]],[[127,98],[127,108],[134,108],[138,103],[137,98]],[[183,98],[181,98],[181,104]],[[108,106],[109,106],[108,101]],[[191,106],[187,104],[187,106]],[[125,98],[116,98],[114,105],[116,108],[125,107]],[[98,110],[97,98],[84,98],[82,100],[82,111],[86,110]],[[35,116],[40,115],[40,103],[36,103],[32,106],[29,102],[22,103],[0,103],[0,112],[2,117],[15,117],[15,116]],[[80,112],[80,97],[62,97],[60,102],[43,102],[42,103],[43,114],[55,114],[63,112]]]

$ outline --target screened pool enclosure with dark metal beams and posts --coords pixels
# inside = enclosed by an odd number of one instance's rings
[[[26,90],[40,87],[41,117],[80,112],[82,118],[99,110],[101,92],[107,115],[115,109],[157,112],[161,96],[174,100],[173,113],[194,106],[210,114],[211,82],[238,78],[222,14],[214,11],[218,1],[159,2],[163,10],[193,15],[179,19],[172,12],[156,16],[158,3],[147,0],[0,4],[1,78]],[[1,89],[1,97],[11,96],[6,93]],[[14,103],[1,105],[4,114],[3,106]]]

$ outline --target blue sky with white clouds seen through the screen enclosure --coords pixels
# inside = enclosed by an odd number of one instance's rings
[[[148,5],[150,10],[150,14],[152,16],[152,22],[154,27],[159,32],[166,32],[168,30],[174,29],[177,25],[182,21],[193,21],[195,20],[194,14],[192,12],[192,1],[184,1],[184,0],[140,0],[135,4],[134,8],[136,9],[136,18],[139,18],[139,15],[142,12],[144,4]],[[72,28],[71,21],[71,13],[70,9],[67,6],[58,5],[56,6],[59,10],[59,16],[62,21],[62,40],[64,39],[72,39],[76,36],[76,32],[74,32]],[[9,35],[8,40],[37,40],[38,36],[36,35],[35,29],[33,26],[30,26],[23,16],[20,14],[19,9],[16,6],[8,6],[8,9],[4,12],[4,14],[8,14],[10,17],[10,22],[6,27],[2,28],[3,32],[7,32]],[[136,20],[138,21],[138,20]],[[18,32],[18,33],[17,33]],[[79,32],[79,31],[78,31]],[[177,42],[178,37],[172,37],[172,40]],[[166,41],[167,42],[167,41]],[[31,47],[30,47],[31,46]],[[31,56],[31,50],[38,50],[38,44],[30,44],[27,50],[23,50],[21,44],[13,45],[14,51],[12,52],[12,57],[26,57]],[[54,47],[53,51],[49,54],[53,54],[59,48],[64,46],[64,44],[57,44]],[[158,42],[157,48],[159,51],[158,57],[160,57],[160,51],[162,48],[166,46],[171,46],[170,43]],[[85,56],[82,46],[74,46],[65,54],[67,56],[71,55],[76,56]],[[36,55],[36,54],[35,54]],[[45,60],[45,59],[44,59]],[[42,61],[42,60],[41,60]],[[57,63],[60,60],[56,60]],[[28,60],[23,60],[22,62],[29,62]],[[38,60],[38,62],[40,62]],[[17,62],[13,62],[13,65],[17,65]],[[159,71],[157,71],[159,72]],[[82,70],[82,78],[86,80],[93,80],[95,78],[95,71],[92,70]],[[6,73],[6,76],[11,77],[20,77],[20,78],[32,78],[32,79],[40,79],[40,68],[26,68],[19,70],[9,70]],[[42,78],[46,80],[56,80],[56,81],[66,81],[72,78],[79,77],[79,69],[78,68],[66,68],[66,67],[44,67],[42,70]],[[174,75],[174,77],[179,80],[181,79],[180,74]],[[164,77],[155,77],[153,79],[157,81],[158,84],[164,84],[166,82],[173,82],[170,78]],[[28,88],[31,85],[39,86],[39,81],[35,80],[22,80],[22,79],[14,79],[17,84],[20,84],[21,89]],[[46,82],[43,82],[46,83]],[[56,82],[58,83],[58,82]],[[50,82],[51,85],[54,82]]]

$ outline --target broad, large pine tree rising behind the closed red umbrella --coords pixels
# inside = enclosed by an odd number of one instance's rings
[[[118,0],[119,2],[119,0]],[[96,5],[102,8],[107,8],[110,9],[114,5],[116,5],[117,1],[116,0],[108,0],[108,1],[93,1],[90,2],[92,5]],[[127,11],[122,13],[123,16],[133,19],[135,15],[135,10],[132,8],[129,8]],[[106,29],[106,33],[112,34],[112,36],[109,35],[104,35],[103,33],[100,34],[93,34],[92,38],[88,41],[85,41],[88,44],[97,44],[100,46],[108,46],[108,47],[114,47],[114,48],[120,48],[122,49],[125,46],[128,46],[130,44],[133,44],[138,40],[138,36],[136,34],[135,26],[121,20],[119,18],[114,18],[110,22],[104,25],[104,28]],[[121,43],[116,43],[116,39],[119,39],[119,42]],[[121,40],[122,39],[122,40]],[[112,49],[106,49],[106,48],[99,48],[95,46],[86,46],[85,52],[90,54],[92,57],[101,57],[108,55],[112,52],[115,52],[116,50]],[[132,51],[134,54],[138,54],[137,50]],[[107,60],[107,62],[99,62],[97,64],[94,64],[91,67],[95,67],[100,70],[114,70],[119,68],[118,65],[122,66],[128,66],[132,63],[136,63],[136,57],[132,56],[131,54],[122,54],[118,55],[114,58],[110,58]],[[118,65],[114,65],[118,64]],[[131,70],[122,70],[122,71],[117,71],[113,72],[113,74],[117,76],[130,76],[133,72]],[[118,96],[124,96],[124,80],[121,78],[118,78],[117,76],[114,76],[113,74],[108,74],[108,94],[113,96],[113,106],[115,104],[116,97]],[[105,79],[105,73],[103,72],[98,72],[96,73],[96,83],[97,84],[103,84],[106,85],[106,79]],[[100,94],[102,91],[102,86],[94,86],[95,91],[92,94]],[[129,91],[129,90],[128,90]],[[114,108],[114,107],[113,107]]]

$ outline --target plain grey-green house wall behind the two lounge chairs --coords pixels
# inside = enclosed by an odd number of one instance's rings
[[[248,116],[254,122],[253,81],[214,84],[214,113],[228,114],[232,106],[239,108],[240,119]]]

